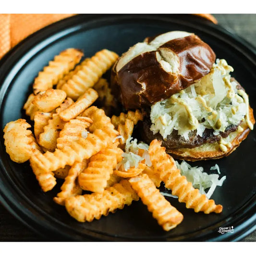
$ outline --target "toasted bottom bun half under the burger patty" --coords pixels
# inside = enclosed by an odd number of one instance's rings
[[[253,115],[253,109],[249,108],[249,119],[255,124],[255,119]],[[202,146],[194,148],[177,148],[177,149],[167,149],[173,158],[178,158],[188,161],[198,161],[198,160],[208,160],[208,159],[218,159],[229,156],[247,137],[250,132],[250,129],[244,120],[240,126],[243,128],[242,132],[235,131],[231,133],[226,139],[226,142],[230,142],[232,146],[228,148],[226,152],[219,149],[218,142],[215,143],[206,143]]]

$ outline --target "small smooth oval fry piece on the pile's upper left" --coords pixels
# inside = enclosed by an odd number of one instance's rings
[[[64,91],[48,89],[45,92],[38,93],[32,104],[43,112],[50,112],[59,107],[65,98],[66,93]]]

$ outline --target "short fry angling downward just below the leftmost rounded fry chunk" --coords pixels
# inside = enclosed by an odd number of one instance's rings
[[[32,156],[36,156],[38,154],[41,154],[40,151],[37,149],[34,149]],[[53,187],[56,185],[56,179],[54,178],[54,173],[52,171],[43,170],[39,168],[33,161],[32,157],[30,158],[30,166],[42,190],[44,192],[52,190]]]

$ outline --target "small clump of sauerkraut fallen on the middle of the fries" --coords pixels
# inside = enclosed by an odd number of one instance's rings
[[[150,156],[148,154],[148,145],[144,142],[137,143],[137,139],[133,140],[133,137],[129,136],[125,142],[125,152],[122,154],[122,161],[116,166],[116,170],[122,165],[124,171],[128,171],[130,168],[137,168],[139,162],[145,160],[147,166],[151,166]],[[143,154],[139,155],[139,149],[143,150]]]

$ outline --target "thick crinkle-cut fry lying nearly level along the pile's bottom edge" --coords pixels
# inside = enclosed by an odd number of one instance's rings
[[[122,209],[125,205],[131,205],[132,201],[139,200],[138,195],[132,189],[127,180],[106,188],[102,194],[76,195],[66,199],[65,207],[68,213],[80,222],[100,219],[110,212]]]

